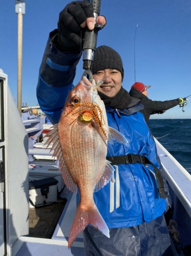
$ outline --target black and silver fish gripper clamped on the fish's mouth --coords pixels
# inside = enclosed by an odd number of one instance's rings
[[[86,29],[83,43],[83,69],[85,69],[84,75],[88,75],[89,80],[93,79],[91,72],[91,65],[94,59],[94,53],[97,44],[98,31],[103,26],[97,23],[97,17],[100,14],[101,0],[90,0],[93,5],[93,14],[95,18],[95,28],[93,30]]]

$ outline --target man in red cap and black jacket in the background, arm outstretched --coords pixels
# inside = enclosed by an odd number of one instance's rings
[[[183,104],[186,98],[177,98],[170,101],[153,101],[148,98],[147,89],[151,86],[146,86],[143,83],[136,82],[131,86],[129,94],[140,99],[144,105],[144,109],[140,110],[145,117],[145,121],[148,123],[150,115],[153,114],[163,114],[167,109],[171,109],[174,106]]]

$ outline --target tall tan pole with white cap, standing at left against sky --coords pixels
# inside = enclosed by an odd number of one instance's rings
[[[18,14],[17,46],[17,109],[22,114],[22,15],[25,14],[25,0],[15,0],[15,12]]]

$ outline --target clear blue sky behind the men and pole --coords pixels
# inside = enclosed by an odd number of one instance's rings
[[[26,3],[23,16],[22,102],[37,105],[39,66],[59,12],[68,0],[40,0]],[[15,1],[0,0],[0,68],[17,101],[17,14]],[[129,91],[136,81],[152,85],[153,100],[170,100],[191,94],[191,1],[190,0],[102,0],[101,14],[107,26],[98,33],[99,45],[114,48],[124,63],[123,87]],[[74,84],[82,69],[80,60]],[[191,96],[189,97],[191,98]],[[152,118],[191,118],[191,99],[185,112],[179,106]]]

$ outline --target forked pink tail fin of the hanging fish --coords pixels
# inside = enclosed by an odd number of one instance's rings
[[[85,227],[87,227],[88,224],[91,224],[93,227],[100,230],[105,236],[110,238],[110,230],[99,213],[96,205],[94,204],[93,207],[90,207],[89,209],[86,207],[86,209],[84,209],[84,207],[81,207],[81,204],[79,204],[76,209],[76,215],[70,230],[68,248],[70,248],[73,241],[85,229]]]

